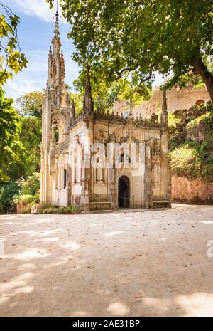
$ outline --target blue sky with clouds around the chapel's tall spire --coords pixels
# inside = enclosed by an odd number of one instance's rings
[[[45,88],[48,50],[54,31],[55,8],[50,10],[45,0],[3,0],[2,2],[21,18],[18,38],[21,51],[25,53],[29,61],[28,68],[14,75],[13,80],[7,80],[4,85],[6,96],[16,99],[25,93],[34,90],[42,91]],[[66,68],[65,83],[72,86],[72,81],[77,78],[79,69],[77,63],[71,58],[75,46],[71,40],[67,39],[68,32],[69,25],[60,11],[60,38]],[[156,75],[155,84],[159,84],[160,80],[160,76]]]

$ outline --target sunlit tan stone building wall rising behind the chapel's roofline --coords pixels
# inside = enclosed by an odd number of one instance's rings
[[[131,111],[133,117],[142,118],[151,117],[153,113],[158,113],[161,107],[163,92],[156,88],[153,91],[153,95],[147,101],[143,101],[137,106],[131,105],[129,101],[122,101],[114,105],[114,112],[121,113],[124,116],[128,116]],[[189,109],[193,105],[200,105],[201,103],[207,103],[210,100],[209,93],[207,88],[193,88],[192,86],[188,88],[183,88],[180,90],[178,87],[173,87],[170,90],[167,90],[167,104],[168,110],[174,112],[175,110],[180,109]]]

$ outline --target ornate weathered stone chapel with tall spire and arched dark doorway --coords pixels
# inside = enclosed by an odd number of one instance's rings
[[[84,210],[170,206],[168,112],[160,122],[94,112],[87,68],[84,107],[65,90],[58,19],[43,100],[41,201]]]

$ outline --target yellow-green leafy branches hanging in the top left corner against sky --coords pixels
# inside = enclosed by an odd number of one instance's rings
[[[18,73],[26,68],[28,63],[25,55],[21,53],[18,42],[18,23],[20,18],[8,6],[1,4],[4,14],[0,14],[0,86],[8,78],[13,78],[13,73]]]

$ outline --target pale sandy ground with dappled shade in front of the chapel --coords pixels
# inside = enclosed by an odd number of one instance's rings
[[[213,206],[0,216],[0,236],[1,316],[213,315]]]

